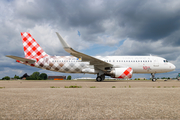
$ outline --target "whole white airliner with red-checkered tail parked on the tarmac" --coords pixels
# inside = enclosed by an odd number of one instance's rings
[[[64,50],[72,56],[50,56],[28,32],[21,32],[25,57],[7,55],[16,62],[28,66],[62,73],[97,74],[96,81],[105,80],[105,76],[130,79],[133,74],[151,74],[155,82],[156,73],[175,70],[175,65],[165,58],[157,56],[89,56],[71,48],[57,33]]]

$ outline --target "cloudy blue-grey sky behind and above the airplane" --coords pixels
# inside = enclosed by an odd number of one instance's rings
[[[0,78],[31,75],[71,75],[25,66],[5,57],[24,57],[20,32],[29,32],[49,55],[68,56],[55,32],[75,50],[96,56],[154,55],[176,66],[156,77],[176,77],[180,71],[179,0],[1,0]],[[150,74],[134,74],[133,78]]]

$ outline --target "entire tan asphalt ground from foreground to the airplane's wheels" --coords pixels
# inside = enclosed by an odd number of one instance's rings
[[[180,119],[180,82],[0,81],[0,119]]]

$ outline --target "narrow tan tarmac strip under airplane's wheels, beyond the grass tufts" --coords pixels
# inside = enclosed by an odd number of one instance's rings
[[[50,88],[51,86],[64,88],[64,86],[77,85],[82,88],[180,88],[180,81],[177,80],[15,80],[0,81],[0,87],[5,88]]]

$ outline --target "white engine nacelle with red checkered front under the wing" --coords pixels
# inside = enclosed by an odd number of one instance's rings
[[[128,79],[132,77],[133,70],[131,67],[126,68],[115,68],[111,71],[112,77]]]

